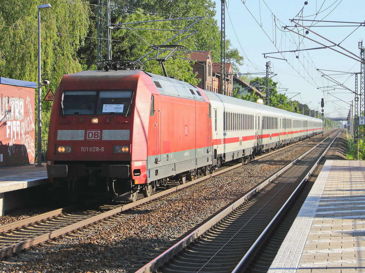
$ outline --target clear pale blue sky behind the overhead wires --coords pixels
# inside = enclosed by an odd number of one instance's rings
[[[353,73],[361,71],[358,42],[364,39],[365,48],[365,1],[304,2],[226,0],[226,39],[231,40],[232,46],[245,59],[245,64],[239,67],[241,73],[265,72],[266,62],[270,62],[270,71],[277,74],[272,79],[278,82],[280,93],[319,111],[323,98],[324,116],[347,117],[351,103],[354,104],[355,100]],[[217,0],[216,11],[216,20],[220,26],[221,2]],[[294,27],[291,19],[309,28],[308,34],[305,33],[307,29]],[[325,46],[327,48],[312,49]],[[299,51],[282,52],[293,50]],[[278,51],[282,53],[268,54]],[[264,58],[264,54],[267,58]],[[252,76],[264,77],[265,74]]]

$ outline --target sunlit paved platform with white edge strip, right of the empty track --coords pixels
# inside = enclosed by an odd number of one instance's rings
[[[327,160],[268,273],[365,272],[365,161]]]

